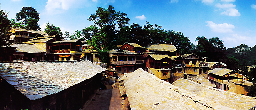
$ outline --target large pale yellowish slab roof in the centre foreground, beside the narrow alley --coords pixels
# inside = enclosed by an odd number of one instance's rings
[[[132,110],[213,110],[216,108],[212,103],[210,107],[203,105],[198,101],[200,99],[197,99],[196,94],[180,89],[141,68],[122,76],[119,81],[122,80]]]

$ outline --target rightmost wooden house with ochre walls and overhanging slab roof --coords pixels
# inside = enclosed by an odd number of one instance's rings
[[[215,68],[208,71],[208,79],[218,89],[243,95],[247,95],[244,87],[252,85],[252,82],[247,81],[248,79],[244,75],[225,68]]]

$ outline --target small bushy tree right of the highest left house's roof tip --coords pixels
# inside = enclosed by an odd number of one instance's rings
[[[49,35],[57,35],[59,37],[63,38],[61,29],[59,27],[53,26],[53,24],[50,24],[49,22],[46,23],[46,27],[44,28],[44,32]]]

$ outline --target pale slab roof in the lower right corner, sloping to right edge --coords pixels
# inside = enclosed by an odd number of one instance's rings
[[[190,94],[196,94],[199,102],[203,104],[212,105],[211,103],[215,103],[217,110],[220,107],[235,110],[248,110],[256,105],[256,99],[254,97],[227,92],[187,79],[180,78],[172,84],[190,92]]]

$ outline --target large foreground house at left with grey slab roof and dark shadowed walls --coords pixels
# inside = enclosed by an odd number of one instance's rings
[[[78,110],[101,87],[105,70],[87,60],[0,63],[0,108]]]

